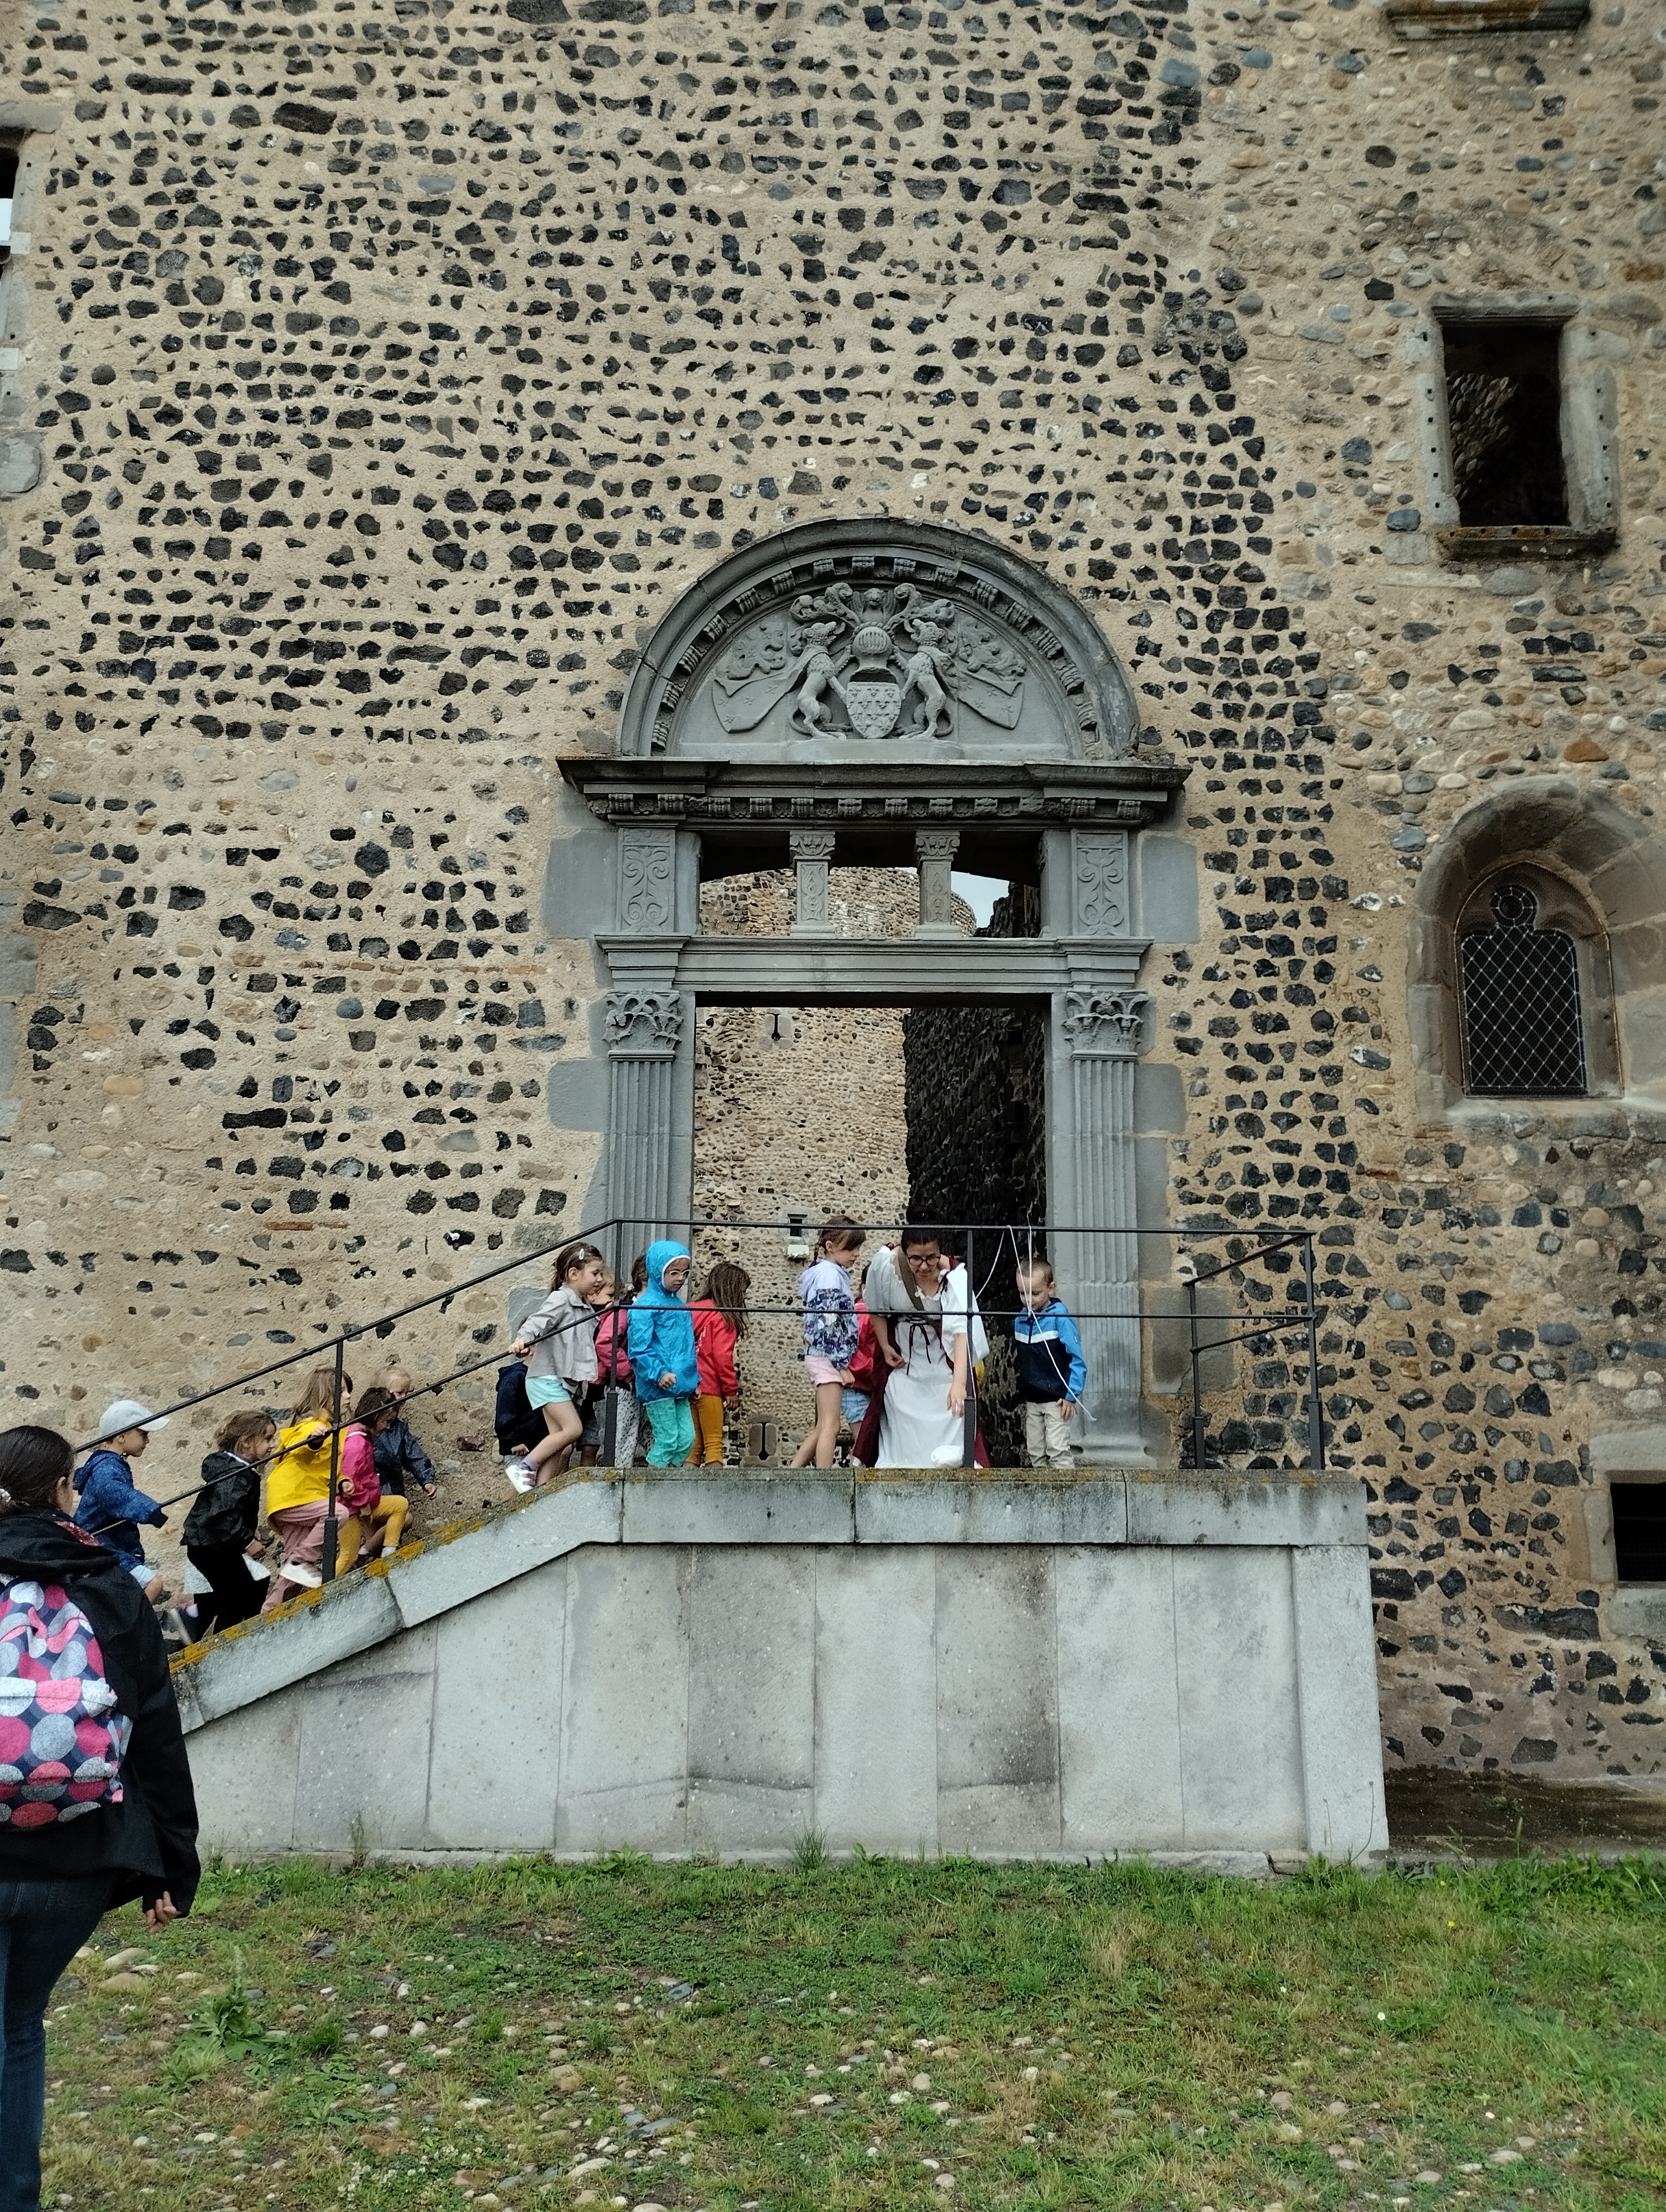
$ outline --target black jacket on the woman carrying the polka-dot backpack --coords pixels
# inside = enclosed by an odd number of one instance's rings
[[[122,1562],[73,1522],[51,1511],[0,1517],[0,1575],[58,1582],[93,1624],[117,1710],[133,1721],[122,1759],[122,1803],[69,1827],[0,1825],[0,1876],[55,1880],[111,1876],[111,1905],[153,1905],[170,1891],[190,1911],[197,1863],[197,1796],[150,1599]]]

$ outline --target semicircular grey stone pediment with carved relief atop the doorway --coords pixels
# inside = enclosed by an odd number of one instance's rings
[[[943,768],[1133,745],[1128,681],[1055,584],[969,533],[843,520],[761,540],[677,602],[617,750]]]

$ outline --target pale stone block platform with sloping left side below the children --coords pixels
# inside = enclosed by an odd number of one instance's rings
[[[1387,1849],[1343,1478],[593,1471],[175,1686],[232,1856]]]

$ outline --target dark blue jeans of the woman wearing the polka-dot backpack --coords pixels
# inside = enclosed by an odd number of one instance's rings
[[[108,1874],[69,1882],[0,1880],[0,2212],[40,2205],[46,2000],[108,1902]]]

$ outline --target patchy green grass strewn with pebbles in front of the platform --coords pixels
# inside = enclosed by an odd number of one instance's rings
[[[97,1942],[155,1971],[106,1989],[82,1958],[60,1989],[49,2205],[1666,2197],[1657,1860],[1279,1885],[834,1867],[810,1840],[779,1874],[283,1863]]]

